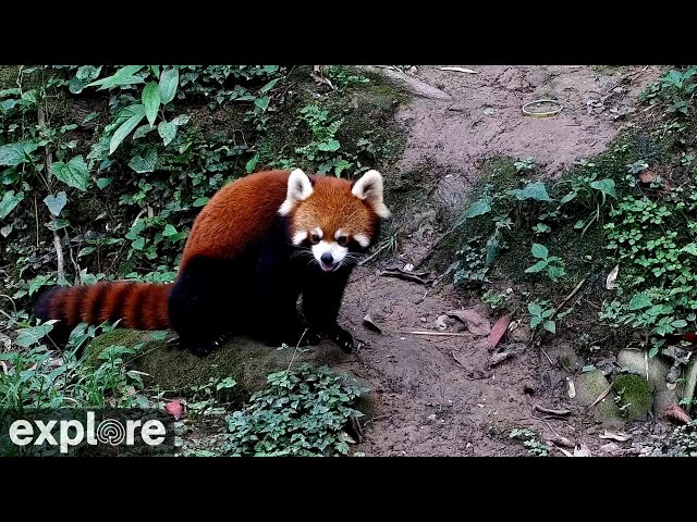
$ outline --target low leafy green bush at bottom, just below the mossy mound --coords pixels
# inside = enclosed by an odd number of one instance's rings
[[[331,456],[348,452],[344,427],[362,417],[363,389],[327,368],[272,373],[268,387],[228,417],[223,450],[233,456]]]

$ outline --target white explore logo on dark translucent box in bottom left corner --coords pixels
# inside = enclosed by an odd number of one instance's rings
[[[4,410],[0,426],[0,455],[174,452],[172,418],[159,410]]]

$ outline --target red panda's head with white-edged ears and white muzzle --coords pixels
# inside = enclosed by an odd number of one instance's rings
[[[289,219],[293,245],[311,251],[326,272],[352,259],[352,252],[372,245],[380,219],[390,217],[382,202],[382,176],[378,171],[368,171],[351,183],[330,176],[308,177],[296,169],[288,179],[288,194],[279,214]]]

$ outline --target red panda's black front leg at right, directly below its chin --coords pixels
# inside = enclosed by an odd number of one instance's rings
[[[303,287],[303,314],[310,325],[309,334],[329,338],[346,353],[353,351],[353,336],[339,326],[337,319],[348,275],[347,269],[315,272],[308,275]]]

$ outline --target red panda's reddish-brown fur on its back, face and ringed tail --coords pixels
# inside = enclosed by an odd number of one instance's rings
[[[290,171],[259,172],[218,191],[194,222],[180,273],[195,256],[231,258],[255,239],[266,237],[285,200],[289,175]],[[314,192],[290,214],[291,233],[320,226],[329,240],[333,240],[339,227],[346,235],[370,234],[378,216],[367,202],[353,197],[350,182],[330,176],[310,177]],[[41,303],[42,319],[60,319],[70,327],[81,321],[122,319],[120,324],[125,327],[167,328],[172,286],[120,281],[59,288]]]

